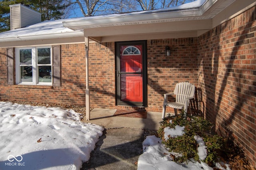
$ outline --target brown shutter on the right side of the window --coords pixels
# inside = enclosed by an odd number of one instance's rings
[[[60,86],[60,45],[52,46],[52,86]]]

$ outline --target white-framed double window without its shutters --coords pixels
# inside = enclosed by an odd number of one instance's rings
[[[52,85],[52,47],[16,48],[16,84]]]

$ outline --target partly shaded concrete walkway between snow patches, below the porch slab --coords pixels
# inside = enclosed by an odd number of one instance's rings
[[[82,170],[136,170],[143,140],[143,129],[106,129]]]

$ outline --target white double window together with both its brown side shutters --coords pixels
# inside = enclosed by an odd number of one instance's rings
[[[6,49],[8,85],[42,84],[61,86],[60,45],[15,49],[16,79],[14,79],[14,48]],[[46,80],[47,78],[48,80]]]

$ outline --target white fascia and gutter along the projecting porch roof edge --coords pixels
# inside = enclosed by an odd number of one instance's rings
[[[110,14],[105,16],[92,16],[77,20],[63,21],[63,26],[70,29],[85,29],[93,27],[106,27],[127,24],[141,24],[168,21],[175,18],[188,18],[202,16],[218,0],[206,0],[201,6],[194,8],[170,8],[150,11],[131,12],[126,14]]]

